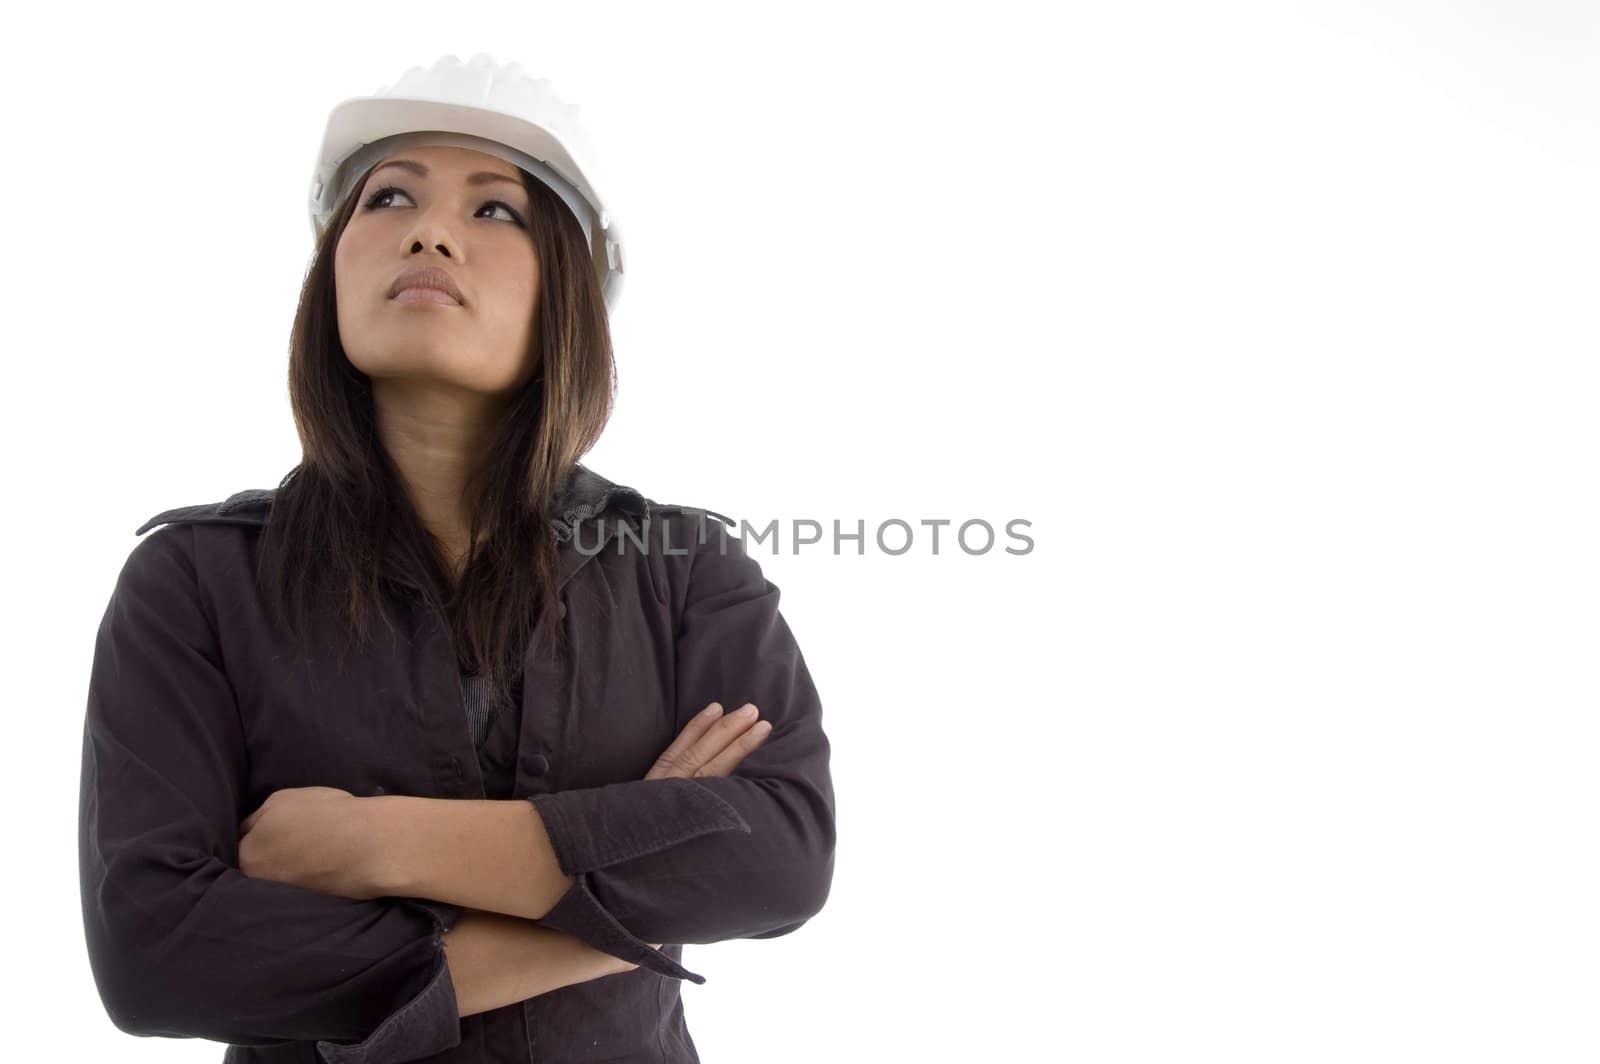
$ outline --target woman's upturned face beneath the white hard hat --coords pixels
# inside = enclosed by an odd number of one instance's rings
[[[510,163],[466,147],[410,147],[357,192],[333,253],[339,341],[381,384],[504,394],[533,374],[539,258]],[[392,294],[406,270],[443,270],[461,301]]]

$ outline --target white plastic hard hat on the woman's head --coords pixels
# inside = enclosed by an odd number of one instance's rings
[[[472,147],[520,166],[562,197],[584,235],[610,310],[622,291],[622,237],[595,190],[597,162],[578,122],[547,78],[486,54],[443,56],[411,67],[371,96],[328,115],[310,178],[310,224],[320,240],[334,208],[378,160],[424,144]]]

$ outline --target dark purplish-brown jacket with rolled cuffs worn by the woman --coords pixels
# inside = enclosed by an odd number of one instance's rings
[[[342,674],[330,618],[302,642],[269,621],[253,574],[270,502],[146,522],[99,626],[78,846],[112,1022],[230,1043],[235,1064],[696,1061],[678,989],[704,979],[682,944],[787,934],[834,874],[821,702],[726,518],[578,466],[555,523],[573,664],[530,654],[522,715],[480,763],[416,589],[395,587],[405,638]],[[712,701],[755,702],[771,734],[731,776],[643,779]],[[642,966],[459,1016],[442,946],[458,906],[238,870],[238,824],[306,786],[533,802],[576,878],[539,923]]]

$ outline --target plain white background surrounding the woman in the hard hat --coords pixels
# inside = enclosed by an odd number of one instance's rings
[[[1032,522],[762,557],[837,874],[792,936],[686,947],[707,1064],[1600,1054],[1594,6],[13,26],[6,1059],[221,1059],[91,982],[94,629],[144,518],[299,458],[328,109],[478,51],[611,178],[590,467],[752,523]]]

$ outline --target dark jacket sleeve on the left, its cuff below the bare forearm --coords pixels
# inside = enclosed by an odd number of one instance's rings
[[[107,1014],[141,1037],[315,1040],[333,1064],[459,1045],[443,949],[459,906],[238,870],[246,749],[192,547],[192,526],[142,539],[94,643],[78,886]]]

